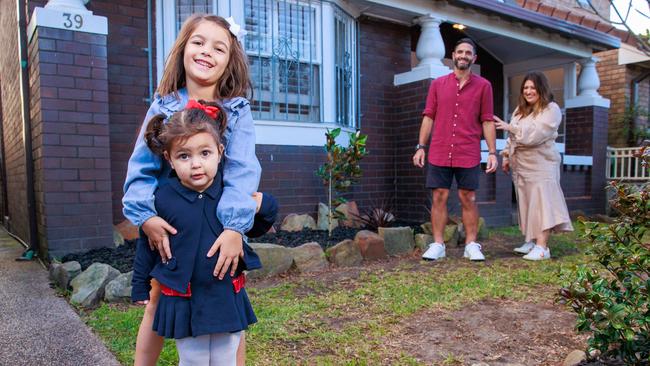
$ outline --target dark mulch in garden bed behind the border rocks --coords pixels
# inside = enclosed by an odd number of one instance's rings
[[[397,221],[393,223],[393,226],[411,226],[416,234],[422,233],[419,224],[412,222]],[[251,239],[251,242],[278,244],[289,248],[294,248],[309,242],[317,242],[323,249],[327,249],[345,239],[354,239],[354,236],[359,230],[362,229],[337,227],[332,231],[331,236],[328,235],[327,231],[322,230],[278,231]],[[93,263],[106,263],[122,273],[127,273],[133,270],[135,245],[135,240],[125,240],[123,245],[116,248],[99,248],[83,253],[71,253],[64,256],[61,261],[64,263],[77,261],[81,264],[82,270],[85,270]]]

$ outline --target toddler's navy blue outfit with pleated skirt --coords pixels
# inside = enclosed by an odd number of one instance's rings
[[[158,251],[149,248],[148,239],[141,232],[134,261],[132,298],[133,301],[149,299],[152,277],[181,293],[186,293],[191,283],[189,298],[160,296],[153,330],[165,338],[237,332],[257,321],[246,290],[235,292],[230,273],[223,280],[213,276],[219,253],[212,258],[206,256],[223,231],[215,215],[221,191],[218,174],[214,183],[202,193],[186,188],[178,179],[170,179],[155,193],[158,216],[178,231],[169,237],[173,257],[166,264],[162,263]],[[273,197],[265,195],[265,201],[255,217],[258,230],[260,227],[268,229],[277,213]],[[244,259],[235,277],[244,270],[261,267],[252,248],[246,243],[243,247]]]

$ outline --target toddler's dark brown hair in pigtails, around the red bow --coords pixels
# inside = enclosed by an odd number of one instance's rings
[[[207,132],[221,146],[221,137],[226,130],[226,113],[216,103],[199,100],[206,106],[218,107],[217,118],[213,119],[199,108],[184,109],[174,113],[169,120],[164,114],[153,116],[147,124],[144,139],[149,149],[163,155],[171,150],[172,144],[183,143],[197,133]],[[221,153],[221,149],[219,153]]]

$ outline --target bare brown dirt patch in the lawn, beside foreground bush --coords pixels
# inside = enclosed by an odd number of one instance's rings
[[[576,317],[560,305],[485,300],[456,311],[428,311],[403,321],[392,344],[426,364],[453,355],[462,364],[557,365],[586,335],[573,328]]]

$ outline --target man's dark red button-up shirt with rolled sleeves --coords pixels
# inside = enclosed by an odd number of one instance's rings
[[[460,88],[452,72],[431,82],[422,115],[433,120],[429,163],[471,168],[481,162],[482,123],[493,120],[492,85],[470,74]]]

